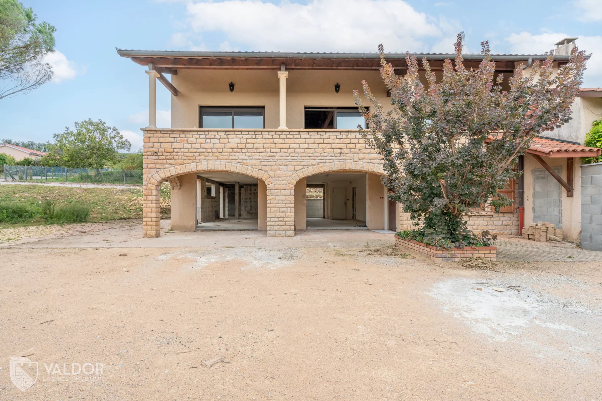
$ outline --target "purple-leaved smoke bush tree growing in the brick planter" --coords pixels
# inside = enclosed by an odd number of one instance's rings
[[[368,122],[360,132],[383,159],[383,183],[393,192],[389,198],[416,221],[417,228],[405,234],[428,245],[488,243],[468,230],[464,215],[483,205],[498,211],[511,204],[497,190],[520,174],[514,164],[535,136],[571,118],[571,103],[582,83],[585,52],[576,47],[558,70],[553,52],[542,63],[534,61],[529,74],[515,69],[509,89],[502,90],[503,77],[495,78],[489,44],[481,45],[483,61],[477,69],[467,69],[459,34],[455,61],[445,60],[441,79],[422,60],[424,83],[415,56],[406,54],[408,71],[398,76],[380,45],[380,76],[393,110],[385,111],[365,81],[369,112],[354,93]]]

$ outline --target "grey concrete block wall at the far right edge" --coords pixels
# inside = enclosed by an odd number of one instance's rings
[[[602,251],[602,163],[581,166],[581,247]]]

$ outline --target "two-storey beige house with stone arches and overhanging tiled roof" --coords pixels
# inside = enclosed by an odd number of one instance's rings
[[[556,66],[568,61],[574,40],[566,38],[557,44]],[[356,129],[365,121],[354,105],[352,91],[361,89],[362,80],[368,81],[385,108],[393,107],[379,76],[378,54],[120,49],[117,53],[149,68],[149,126],[142,129],[144,236],[160,235],[159,186],[164,181],[173,189],[173,230],[256,228],[268,236],[293,236],[308,228],[411,228],[407,213],[387,199],[379,156]],[[426,57],[440,75],[444,60],[455,55],[417,57]],[[464,58],[470,68],[477,67],[483,56]],[[507,85],[515,69],[546,56],[492,58]],[[388,54],[386,60],[400,74],[405,72],[405,54]],[[172,75],[172,81],[164,74]],[[156,127],[157,81],[172,93],[172,127]],[[579,173],[574,170],[580,163],[574,159],[599,155],[600,150],[542,138],[527,153],[521,159],[526,166],[524,180],[509,183],[503,191],[514,197],[515,205],[500,213],[476,210],[468,216],[471,228],[518,234],[519,207],[529,208],[534,194],[528,177],[536,174],[539,179],[539,167],[533,161],[540,165],[547,161],[553,166],[550,171],[559,170],[577,193]],[[565,165],[573,167],[573,176],[566,176]],[[556,205],[554,197],[564,195],[547,174],[544,190],[538,192],[550,191],[546,196]],[[308,187],[322,189],[322,218],[308,218]],[[538,203],[539,195],[535,195]],[[549,207],[568,207],[578,213],[569,203],[575,203],[573,198]],[[314,206],[310,206],[310,216],[320,213]],[[531,216],[525,212],[525,225],[540,216],[553,217],[557,209],[535,211]],[[568,215],[565,212],[563,217]],[[562,224],[568,223],[563,219]],[[578,239],[575,230],[571,228],[565,237]]]

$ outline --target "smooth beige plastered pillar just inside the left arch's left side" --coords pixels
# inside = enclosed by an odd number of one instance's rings
[[[196,228],[196,173],[178,177],[180,189],[172,191],[172,230]]]

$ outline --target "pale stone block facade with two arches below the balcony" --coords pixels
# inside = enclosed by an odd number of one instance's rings
[[[329,171],[382,174],[357,131],[144,129],[143,234],[160,235],[159,185],[202,171],[247,174],[267,187],[267,235],[294,235],[294,185]]]

